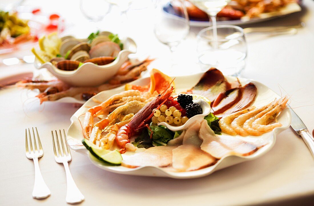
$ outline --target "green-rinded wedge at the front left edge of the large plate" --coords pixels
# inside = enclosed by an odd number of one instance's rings
[[[100,161],[111,165],[121,164],[122,156],[117,150],[111,151],[108,149],[102,149],[86,139],[83,139],[82,143],[89,150],[89,152]]]

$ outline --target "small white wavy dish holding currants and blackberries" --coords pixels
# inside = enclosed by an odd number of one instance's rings
[[[170,124],[168,124],[166,122],[161,122],[158,125],[163,125],[166,128],[170,129],[171,131],[179,131],[179,130],[187,129],[190,126],[190,124],[192,124],[195,121],[201,122],[204,119],[204,117],[207,116],[210,113],[210,110],[211,110],[210,105],[208,104],[208,102],[206,102],[203,99],[193,100],[193,102],[194,103],[198,103],[199,105],[201,105],[202,112],[203,112],[202,114],[198,114],[198,115],[195,115],[195,116],[189,118],[187,120],[187,122],[184,123],[181,126],[171,126]]]

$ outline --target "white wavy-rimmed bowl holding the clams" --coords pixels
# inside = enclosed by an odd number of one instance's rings
[[[64,37],[63,37],[64,38]],[[82,39],[78,39],[82,40]],[[39,69],[47,68],[58,79],[72,86],[91,87],[105,83],[116,75],[119,68],[127,60],[128,55],[136,53],[136,43],[131,38],[121,40],[123,43],[123,50],[121,50],[116,59],[106,65],[97,65],[91,62],[82,64],[76,70],[64,71],[58,69],[50,62],[42,64]]]

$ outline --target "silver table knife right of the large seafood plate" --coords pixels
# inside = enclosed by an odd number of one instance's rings
[[[291,127],[295,130],[295,132],[301,136],[306,143],[307,147],[309,148],[310,152],[312,153],[312,156],[314,158],[314,138],[309,133],[309,130],[306,128],[303,121],[300,119],[300,117],[293,111],[293,109],[290,108],[291,112]]]

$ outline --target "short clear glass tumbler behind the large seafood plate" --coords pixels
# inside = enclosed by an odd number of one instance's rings
[[[237,26],[217,26],[217,39],[214,28],[201,30],[198,35],[198,63],[203,71],[214,67],[224,75],[239,77],[246,63],[246,40],[243,29]]]

